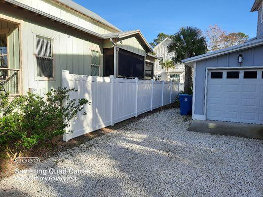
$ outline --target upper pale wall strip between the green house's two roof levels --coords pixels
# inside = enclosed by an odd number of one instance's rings
[[[106,25],[96,22],[92,18],[84,16],[83,14],[78,13],[73,9],[70,9],[66,6],[63,6],[62,4],[58,4],[51,0],[17,1],[96,33],[106,34],[117,32],[116,30],[113,30],[112,28],[107,27]]]

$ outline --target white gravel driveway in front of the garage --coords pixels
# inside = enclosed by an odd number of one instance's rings
[[[189,123],[178,109],[153,113],[30,168],[40,175],[2,180],[0,197],[262,197],[263,141],[189,132]],[[38,180],[49,177],[65,180]]]

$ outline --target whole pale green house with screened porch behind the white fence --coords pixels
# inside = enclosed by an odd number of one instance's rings
[[[62,86],[73,74],[150,79],[149,43],[71,0],[0,1],[0,88],[12,95]]]

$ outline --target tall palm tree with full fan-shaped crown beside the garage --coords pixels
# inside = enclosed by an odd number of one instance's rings
[[[177,33],[171,36],[172,43],[168,45],[168,52],[174,53],[173,60],[182,63],[182,60],[207,52],[207,41],[198,28],[182,27]],[[192,69],[186,66],[184,92],[192,93]]]

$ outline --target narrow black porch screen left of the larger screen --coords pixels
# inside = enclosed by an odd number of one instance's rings
[[[104,76],[114,75],[114,48],[103,49]]]

